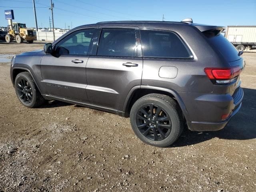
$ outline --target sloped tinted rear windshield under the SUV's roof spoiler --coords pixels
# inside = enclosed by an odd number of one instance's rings
[[[238,51],[223,35],[208,37],[210,43],[217,48],[228,62],[236,61],[241,58],[238,56]]]

